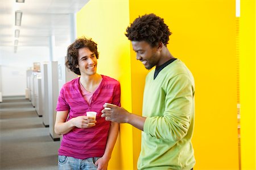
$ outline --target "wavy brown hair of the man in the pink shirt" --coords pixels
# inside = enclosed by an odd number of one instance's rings
[[[81,75],[79,68],[77,68],[78,57],[79,57],[79,49],[80,48],[89,48],[90,51],[95,53],[96,58],[98,59],[98,51],[97,51],[97,43],[93,42],[93,40],[87,39],[84,36],[76,39],[74,43],[69,45],[68,52],[67,52],[67,60],[65,62],[65,65],[68,69],[70,69],[72,72]]]

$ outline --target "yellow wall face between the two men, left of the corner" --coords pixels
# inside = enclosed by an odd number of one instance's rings
[[[77,13],[77,36],[98,44],[98,73],[121,83],[121,104],[131,111],[130,44],[124,35],[129,23],[129,1],[91,0]],[[133,136],[130,125],[120,125],[109,169],[132,169]]]

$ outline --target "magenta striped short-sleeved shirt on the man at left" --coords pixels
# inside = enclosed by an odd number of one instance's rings
[[[73,128],[63,135],[59,155],[72,156],[77,159],[101,157],[104,155],[110,122],[101,117],[104,103],[120,106],[120,84],[108,76],[102,76],[98,89],[93,93],[90,104],[82,97],[79,79],[63,85],[60,90],[56,111],[69,110],[69,119],[86,115],[86,111],[96,111],[96,126],[90,128]]]

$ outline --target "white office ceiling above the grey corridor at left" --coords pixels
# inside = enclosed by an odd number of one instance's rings
[[[89,0],[0,0],[0,46],[48,46],[67,43],[71,36],[71,14],[77,13]],[[15,26],[15,11],[22,11],[20,26]],[[15,30],[20,30],[15,38]]]

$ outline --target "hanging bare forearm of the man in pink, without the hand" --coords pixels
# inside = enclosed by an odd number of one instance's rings
[[[109,135],[108,140],[106,143],[106,148],[103,157],[106,157],[106,159],[110,160],[115,141],[117,140],[119,131],[119,123],[111,122],[110,128],[109,128]]]

